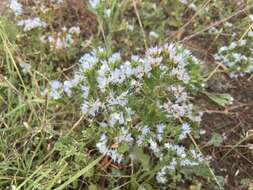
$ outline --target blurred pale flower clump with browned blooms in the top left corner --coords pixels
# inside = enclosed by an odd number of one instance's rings
[[[59,31],[59,29],[52,28],[52,21],[48,22],[48,19],[46,19],[50,11],[55,11],[64,2],[64,0],[41,1],[24,7],[18,0],[11,0],[9,8],[16,16],[17,25],[22,27],[24,32],[42,29],[42,34],[39,36],[40,41],[48,45],[50,50],[61,50],[73,47],[80,37],[79,26],[69,28],[64,26]],[[36,10],[37,14],[33,18],[23,14],[29,9]],[[48,26],[50,26],[50,29]],[[56,30],[59,32],[56,32]]]

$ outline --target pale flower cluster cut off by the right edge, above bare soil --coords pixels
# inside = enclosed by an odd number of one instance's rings
[[[223,62],[230,71],[230,77],[244,76],[253,72],[253,32],[249,32],[245,39],[231,42],[229,46],[220,47],[214,56]]]

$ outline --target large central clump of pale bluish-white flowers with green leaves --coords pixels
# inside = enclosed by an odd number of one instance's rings
[[[87,127],[100,131],[98,151],[116,163],[127,162],[133,147],[170,162],[168,169],[197,165],[201,159],[182,143],[201,121],[189,94],[203,86],[199,61],[180,45],[149,48],[123,61],[119,52],[93,49],[79,60],[70,80],[52,81],[49,95],[80,96]],[[192,128],[195,126],[194,128]],[[170,156],[168,156],[170,155]]]

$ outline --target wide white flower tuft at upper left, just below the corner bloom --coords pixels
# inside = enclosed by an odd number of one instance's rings
[[[28,32],[34,28],[45,28],[47,26],[47,23],[41,21],[40,18],[36,17],[32,19],[20,20],[17,25],[24,27],[24,32]]]

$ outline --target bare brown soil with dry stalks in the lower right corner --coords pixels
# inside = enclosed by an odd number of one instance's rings
[[[204,114],[202,127],[207,133],[201,145],[204,146],[210,140],[213,132],[222,135],[224,141],[221,146],[202,150],[205,155],[212,156],[211,164],[215,173],[225,178],[226,189],[245,189],[242,180],[253,180],[253,150],[250,149],[253,144],[253,81],[230,80],[224,84],[229,86],[227,92],[233,96],[234,105],[228,108],[227,113],[218,113],[224,109],[213,104],[207,105],[205,101],[205,109],[218,112]],[[211,88],[219,91],[217,86]],[[246,140],[242,141],[244,138]]]

